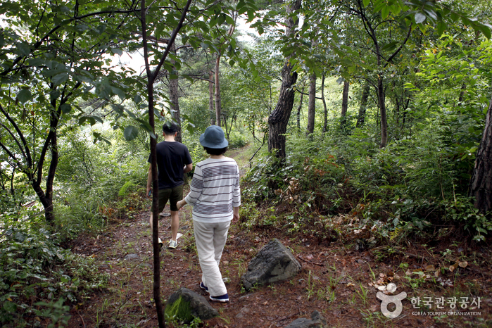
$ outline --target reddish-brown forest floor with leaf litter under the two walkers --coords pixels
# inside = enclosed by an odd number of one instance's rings
[[[229,152],[242,172],[248,168],[244,154]],[[163,213],[169,213],[168,206]],[[68,327],[158,327],[152,301],[149,214],[150,201],[149,210],[113,221],[103,234],[84,235],[72,241],[72,251],[96,258],[101,272],[110,278],[106,289],[72,307]],[[177,249],[164,247],[161,253],[160,291],[164,305],[181,286],[206,296],[198,287],[201,270],[189,206],[180,212],[179,220],[183,236]],[[170,217],[161,216],[160,237],[165,244],[168,236]],[[272,238],[278,238],[291,249],[302,265],[301,272],[293,279],[244,291],[241,275]],[[130,254],[134,259],[125,259]],[[222,276],[230,279],[226,285],[230,302],[210,302],[220,317],[203,325],[284,327],[298,317],[310,317],[317,310],[328,327],[492,327],[491,269],[492,254],[488,247],[469,246],[462,240],[445,238],[428,244],[407,241],[406,248],[356,251],[353,243],[319,244],[308,235],[292,236],[275,228],[246,229],[236,224],[229,229],[221,263]],[[382,315],[381,301],[376,297],[377,286],[389,282],[398,287],[396,294],[407,294],[402,301],[403,312],[394,319]],[[412,304],[417,299],[420,308]],[[389,305],[390,311],[392,306]],[[455,311],[462,313],[450,313]]]

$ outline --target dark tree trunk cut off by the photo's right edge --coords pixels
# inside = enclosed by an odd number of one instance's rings
[[[469,196],[475,198],[474,206],[481,213],[492,210],[492,99],[488,105],[484,133],[470,180]]]

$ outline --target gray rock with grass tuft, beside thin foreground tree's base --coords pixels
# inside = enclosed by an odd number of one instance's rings
[[[194,317],[208,320],[219,315],[206,298],[184,287],[181,287],[170,296],[164,312],[167,320],[185,323],[193,321]]]

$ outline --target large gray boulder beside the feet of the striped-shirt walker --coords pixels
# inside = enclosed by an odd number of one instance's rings
[[[248,271],[241,277],[246,290],[255,285],[290,279],[301,271],[301,264],[278,239],[272,239],[251,260]]]

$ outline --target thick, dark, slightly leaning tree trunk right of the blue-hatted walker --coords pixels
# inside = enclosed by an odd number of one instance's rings
[[[286,7],[286,37],[291,36],[292,28],[297,24],[289,15],[299,8],[301,8],[301,0],[295,0]],[[282,68],[282,86],[280,87],[279,101],[268,118],[268,151],[271,153],[274,149],[277,149],[277,157],[279,158],[285,158],[286,156],[285,132],[291,116],[292,106],[294,106],[294,89],[292,87],[297,81],[297,72],[291,71],[289,58],[292,56],[294,56],[294,53],[286,58],[284,68]]]

